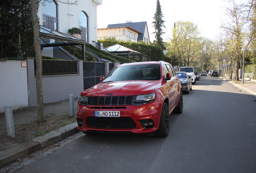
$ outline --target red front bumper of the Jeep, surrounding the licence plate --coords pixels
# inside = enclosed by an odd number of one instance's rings
[[[152,133],[159,128],[161,104],[156,100],[145,105],[82,106],[78,103],[76,113],[78,127],[84,132],[97,133]],[[120,111],[120,117],[95,117],[95,111]],[[149,128],[142,127],[145,122],[153,122]]]

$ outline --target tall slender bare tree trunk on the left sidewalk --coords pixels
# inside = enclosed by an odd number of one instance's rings
[[[43,89],[42,89],[42,56],[39,40],[39,24],[37,20],[36,0],[31,0],[32,24],[34,32],[35,63],[36,63],[36,87],[37,87],[37,121],[45,122],[43,115]]]

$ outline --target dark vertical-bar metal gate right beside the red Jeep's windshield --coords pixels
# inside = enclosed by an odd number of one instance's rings
[[[104,62],[83,62],[84,90],[99,83],[99,77],[105,75]]]

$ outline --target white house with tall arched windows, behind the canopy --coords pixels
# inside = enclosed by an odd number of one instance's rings
[[[39,5],[39,24],[65,34],[70,28],[80,28],[81,39],[92,44],[97,41],[97,6],[101,4],[102,0],[79,0],[77,5],[46,1]],[[43,48],[42,55],[54,57],[53,51],[53,47]]]

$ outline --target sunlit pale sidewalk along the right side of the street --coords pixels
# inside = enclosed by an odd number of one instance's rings
[[[248,80],[248,78],[244,78],[244,84],[242,84],[241,78],[237,82],[230,80],[229,76],[220,77],[220,78],[228,81],[230,84],[234,85],[235,87],[248,92],[250,95],[256,95],[256,81],[254,80]]]

